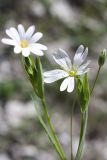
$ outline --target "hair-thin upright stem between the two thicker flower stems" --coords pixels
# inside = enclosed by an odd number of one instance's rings
[[[72,105],[72,109],[71,109],[71,160],[74,159],[74,157],[73,157],[73,147],[72,147],[72,119],[73,119],[75,102],[76,102],[76,98],[73,101],[73,105]]]

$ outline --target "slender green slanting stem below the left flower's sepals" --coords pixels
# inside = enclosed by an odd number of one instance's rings
[[[58,140],[58,138],[57,138],[57,136],[56,136],[55,129],[54,129],[54,127],[53,127],[53,124],[52,124],[52,122],[51,122],[50,116],[49,116],[49,114],[48,114],[47,106],[46,106],[46,103],[45,103],[45,99],[44,99],[44,98],[41,99],[41,102],[42,102],[42,105],[43,105],[43,109],[44,109],[44,112],[45,112],[45,116],[46,116],[46,118],[47,118],[48,125],[49,125],[50,130],[51,130],[51,132],[52,132],[52,134],[53,134],[53,137],[54,137],[54,139],[55,139],[55,141],[56,141],[56,143],[57,143],[57,146],[58,146],[58,148],[59,148],[59,151],[60,151],[60,153],[61,153],[61,155],[62,155],[62,160],[66,160],[65,153],[64,153],[63,148],[62,148],[62,146],[61,146],[61,144],[60,144],[60,142],[59,142],[59,140]]]

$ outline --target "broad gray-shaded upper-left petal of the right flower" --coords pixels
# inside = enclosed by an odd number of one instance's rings
[[[64,50],[59,49],[58,52],[53,54],[53,58],[56,61],[56,63],[58,63],[63,69],[65,70],[71,69],[72,67],[71,60]]]

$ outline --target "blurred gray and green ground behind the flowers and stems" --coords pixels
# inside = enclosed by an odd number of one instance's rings
[[[58,48],[73,57],[80,44],[89,47],[90,86],[98,69],[98,55],[107,49],[107,0],[0,0],[0,39],[5,29],[35,25],[48,46],[44,69]],[[47,54],[48,53],[48,54]],[[70,159],[70,111],[73,94],[59,91],[59,82],[45,86],[46,100],[56,132]],[[32,88],[13,48],[0,43],[0,160],[56,160],[53,147],[39,124]],[[73,150],[80,130],[78,104],[73,116]],[[90,102],[83,160],[107,160],[107,63]]]

